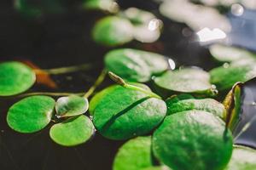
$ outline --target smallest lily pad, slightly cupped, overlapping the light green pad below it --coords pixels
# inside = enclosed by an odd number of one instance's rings
[[[56,101],[55,105],[57,117],[82,115],[88,108],[88,99],[76,95],[61,97]]]

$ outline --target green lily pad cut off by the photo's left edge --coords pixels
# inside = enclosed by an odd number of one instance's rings
[[[25,92],[36,81],[36,75],[28,66],[15,61],[0,64],[0,96]]]

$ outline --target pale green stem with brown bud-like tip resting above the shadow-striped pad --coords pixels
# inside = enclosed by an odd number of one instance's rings
[[[140,88],[140,87],[137,87],[137,86],[134,86],[132,84],[129,84],[127,82],[125,82],[124,79],[122,79],[121,77],[117,76],[116,74],[114,74],[113,72],[111,71],[108,71],[108,76],[114,81],[114,82],[117,82],[119,85],[123,86],[124,88],[130,88],[130,89],[133,89],[133,90],[137,90],[137,91],[140,91],[140,92],[143,92],[143,94],[148,94],[148,96],[152,97],[152,98],[157,98],[157,99],[161,99],[161,97],[157,94],[154,94],[153,92],[151,91],[148,91],[144,88]]]

